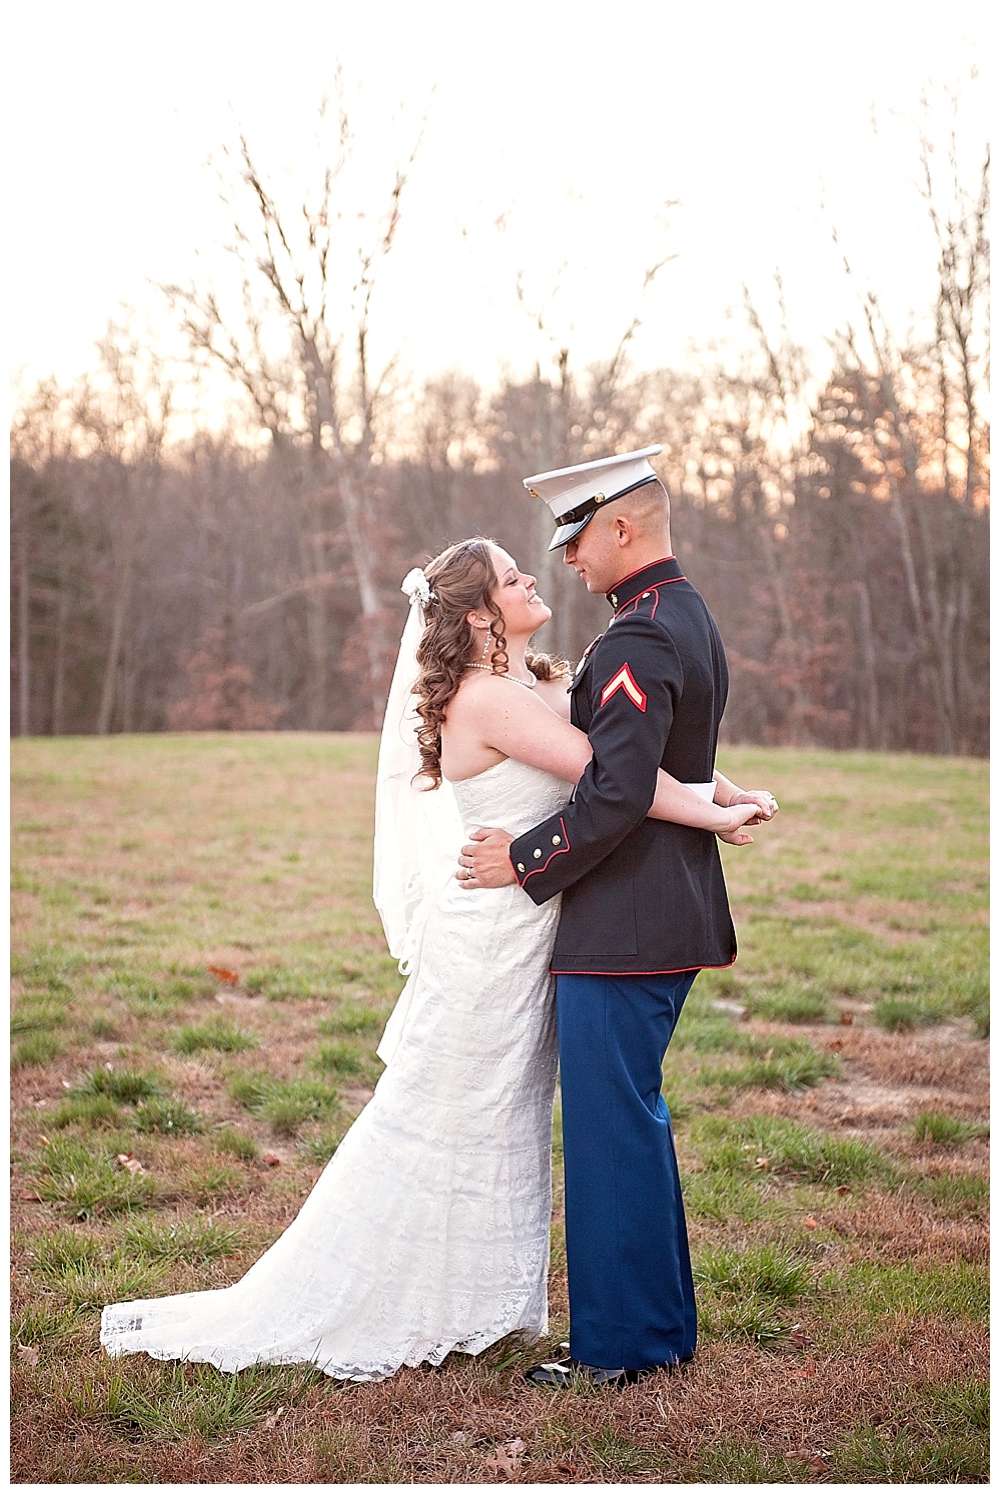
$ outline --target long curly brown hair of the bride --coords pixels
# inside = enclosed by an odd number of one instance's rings
[[[481,536],[462,539],[425,566],[433,595],[423,610],[426,626],[417,644],[420,674],[414,695],[417,716],[423,723],[417,728],[417,778],[428,778],[433,789],[441,786],[441,726],[465,671],[475,662],[466,622],[469,613],[489,613],[489,630],[495,644],[490,665],[493,674],[508,672],[504,614],[493,601],[499,578],[490,557],[492,544],[496,541]],[[549,654],[528,651],[525,660],[538,680],[559,680],[570,674],[562,660],[550,659]]]

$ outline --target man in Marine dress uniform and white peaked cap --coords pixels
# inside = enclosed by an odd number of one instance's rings
[[[463,847],[480,886],[562,893],[553,950],[567,1179],[570,1357],[529,1371],[623,1385],[695,1352],[695,1298],[662,1061],[698,970],[735,934],[716,837],[646,819],[656,769],[752,802],[714,772],[728,671],[719,630],[670,544],[647,447],[525,480],[556,517],[550,548],[614,610],[570,686],[593,757],[559,814]],[[753,822],[756,823],[756,822]]]

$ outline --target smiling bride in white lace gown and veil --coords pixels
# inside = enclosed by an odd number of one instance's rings
[[[105,1307],[111,1355],[239,1370],[311,1363],[372,1380],[547,1330],[559,898],[463,890],[471,828],[519,835],[590,759],[568,672],[529,650],[552,616],[486,539],[404,583],[411,608],[380,748],[375,902],[408,974],[387,1064],[302,1210],[233,1286]],[[650,814],[744,844],[722,808],[659,774]]]

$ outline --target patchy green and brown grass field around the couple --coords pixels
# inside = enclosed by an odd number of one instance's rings
[[[378,1077],[374,757],[13,744],[13,1479],[985,1482],[982,762],[720,759],[782,811],[726,847],[740,959],[698,979],[664,1077],[691,1373],[552,1395],[516,1342],[360,1386],[105,1358],[103,1303],[247,1270]],[[556,1209],[543,1348],[564,1258]]]

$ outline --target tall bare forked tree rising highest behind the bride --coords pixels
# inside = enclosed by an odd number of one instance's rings
[[[320,179],[290,206],[278,200],[245,134],[226,154],[223,197],[232,214],[229,248],[239,267],[241,308],[224,309],[212,288],[164,287],[191,348],[247,393],[286,474],[299,535],[299,574],[288,584],[308,602],[312,728],[329,725],[330,711],[324,536],[332,524],[324,520],[332,500],[339,503],[357,589],[372,723],[384,705],[387,639],[366,506],[393,363],[372,371],[371,327],[422,134],[396,164],[384,206],[359,235],[344,190],[356,140],[339,79],[336,109],[321,106],[320,128]]]

